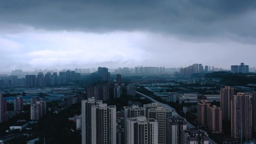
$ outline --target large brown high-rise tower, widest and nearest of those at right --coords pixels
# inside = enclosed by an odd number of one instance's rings
[[[231,103],[231,137],[235,139],[252,138],[252,104],[250,95],[237,93]]]

